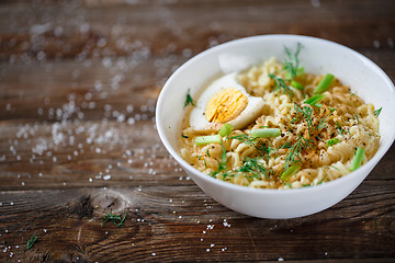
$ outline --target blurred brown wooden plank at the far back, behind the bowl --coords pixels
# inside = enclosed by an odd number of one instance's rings
[[[11,54],[26,52],[37,55],[41,50],[47,58],[125,55],[142,45],[153,54],[184,49],[196,53],[225,41],[270,33],[314,35],[351,47],[372,47],[373,41],[377,41],[382,47],[393,48],[388,38],[395,38],[391,0],[380,1],[380,4],[374,1],[325,2],[319,8],[307,1],[100,3],[71,4],[69,12],[65,12],[63,4],[37,4],[30,15],[25,15],[30,2],[3,5],[0,8],[0,32],[3,33],[0,57],[9,59]],[[45,15],[49,15],[52,22],[40,20]],[[21,19],[14,20],[15,16]],[[31,16],[37,18],[36,24],[31,23]],[[69,19],[71,21],[65,26],[63,23]],[[13,22],[11,26],[9,21]],[[36,45],[30,45],[34,33],[42,34]]]

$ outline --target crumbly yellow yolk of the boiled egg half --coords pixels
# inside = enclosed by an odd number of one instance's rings
[[[210,99],[204,114],[211,123],[226,123],[238,116],[247,104],[248,98],[241,91],[228,88]]]

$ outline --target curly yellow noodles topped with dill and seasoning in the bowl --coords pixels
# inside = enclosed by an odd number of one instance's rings
[[[184,122],[180,156],[203,173],[218,180],[259,188],[313,186],[350,173],[357,148],[364,149],[362,164],[379,149],[379,118],[374,106],[335,79],[319,104],[305,103],[323,76],[303,73],[295,80],[303,91],[290,88],[292,95],[275,90],[275,73],[285,79],[284,65],[270,58],[237,75],[237,81],[252,96],[264,101],[261,115],[242,129],[233,130],[224,144],[196,146],[194,139],[217,132],[194,130]],[[187,115],[185,119],[189,119]],[[249,137],[252,129],[279,128],[274,138]],[[329,145],[328,140],[336,144]],[[224,157],[225,151],[225,157]],[[301,169],[284,180],[293,164]]]

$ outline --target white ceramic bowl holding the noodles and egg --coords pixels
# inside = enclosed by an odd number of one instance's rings
[[[314,187],[260,190],[235,185],[208,176],[178,153],[183,103],[188,89],[192,98],[207,81],[232,70],[256,65],[271,56],[284,59],[284,46],[303,45],[301,65],[306,72],[331,72],[380,114],[380,148],[364,165],[350,174]],[[193,181],[211,197],[236,211],[262,218],[294,218],[324,210],[349,195],[372,171],[395,138],[395,90],[390,78],[374,62],[342,45],[308,36],[263,35],[225,43],[207,49],[182,65],[166,82],[157,103],[159,136]],[[374,191],[374,188],[372,188]]]

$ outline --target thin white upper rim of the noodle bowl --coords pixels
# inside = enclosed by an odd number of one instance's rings
[[[360,59],[362,62],[368,65],[371,70],[375,71],[375,75],[377,75],[384,82],[386,82],[387,87],[392,89],[393,95],[395,95],[395,87],[394,87],[393,82],[391,81],[390,77],[384,72],[384,70],[382,70],[375,62],[373,62],[371,59],[363,56],[362,54],[360,54],[347,46],[338,44],[336,42],[327,41],[327,39],[314,37],[314,36],[294,35],[294,34],[268,34],[268,35],[256,35],[256,36],[242,37],[242,38],[238,38],[238,39],[234,39],[234,41],[229,41],[229,42],[219,44],[217,46],[207,48],[206,50],[203,50],[202,53],[196,54],[195,56],[193,56],[192,58],[190,58],[185,62],[183,62],[166,81],[165,85],[162,87],[162,90],[160,91],[160,94],[159,94],[159,98],[157,101],[157,106],[156,106],[156,127],[157,127],[160,140],[163,144],[165,148],[169,151],[169,153],[172,156],[172,158],[174,158],[176,161],[178,163],[180,163],[183,169],[187,170],[187,172],[192,173],[193,175],[196,175],[200,179],[202,179],[204,181],[208,181],[210,183],[215,184],[217,186],[232,188],[232,190],[239,191],[239,192],[249,192],[249,193],[259,193],[259,194],[269,194],[269,195],[273,195],[273,194],[274,195],[293,195],[293,194],[297,194],[297,193],[302,194],[302,193],[308,193],[312,191],[332,188],[339,184],[342,184],[345,181],[354,180],[358,178],[361,179],[361,175],[365,174],[364,176],[362,176],[362,180],[361,180],[361,182],[362,182],[369,175],[371,170],[384,157],[384,155],[387,152],[387,150],[391,148],[391,146],[394,144],[395,129],[392,130],[388,142],[383,145],[382,141],[380,140],[381,145],[380,145],[376,153],[373,156],[372,159],[370,159],[365,164],[361,165],[361,168],[359,168],[358,170],[350,172],[349,174],[338,178],[336,180],[323,183],[323,184],[317,184],[317,185],[313,185],[313,186],[308,186],[308,187],[282,188],[282,190],[248,187],[248,186],[234,184],[230,182],[222,181],[222,180],[215,179],[213,176],[210,176],[210,175],[199,171],[198,169],[193,168],[184,159],[182,159],[181,156],[177,152],[176,149],[173,149],[173,147],[169,142],[168,138],[166,137],[165,129],[163,129],[163,127],[166,125],[163,124],[162,119],[159,118],[160,111],[161,111],[161,107],[163,106],[163,104],[166,103],[166,98],[165,98],[166,91],[169,89],[172,81],[174,79],[177,79],[179,75],[182,73],[184,68],[189,67],[189,65],[193,64],[195,60],[201,59],[201,57],[204,57],[210,53],[215,53],[217,49],[224,49],[224,48],[226,49],[228,46],[239,45],[239,44],[242,44],[244,42],[250,42],[250,41],[255,41],[255,39],[264,41],[264,39],[270,39],[270,38],[273,38],[273,39],[274,38],[292,38],[294,41],[307,39],[307,41],[313,41],[313,42],[318,42],[318,43],[326,43],[326,44],[332,45],[336,48],[345,49],[346,52],[352,54],[358,59]],[[373,163],[375,163],[375,164],[373,165]]]

